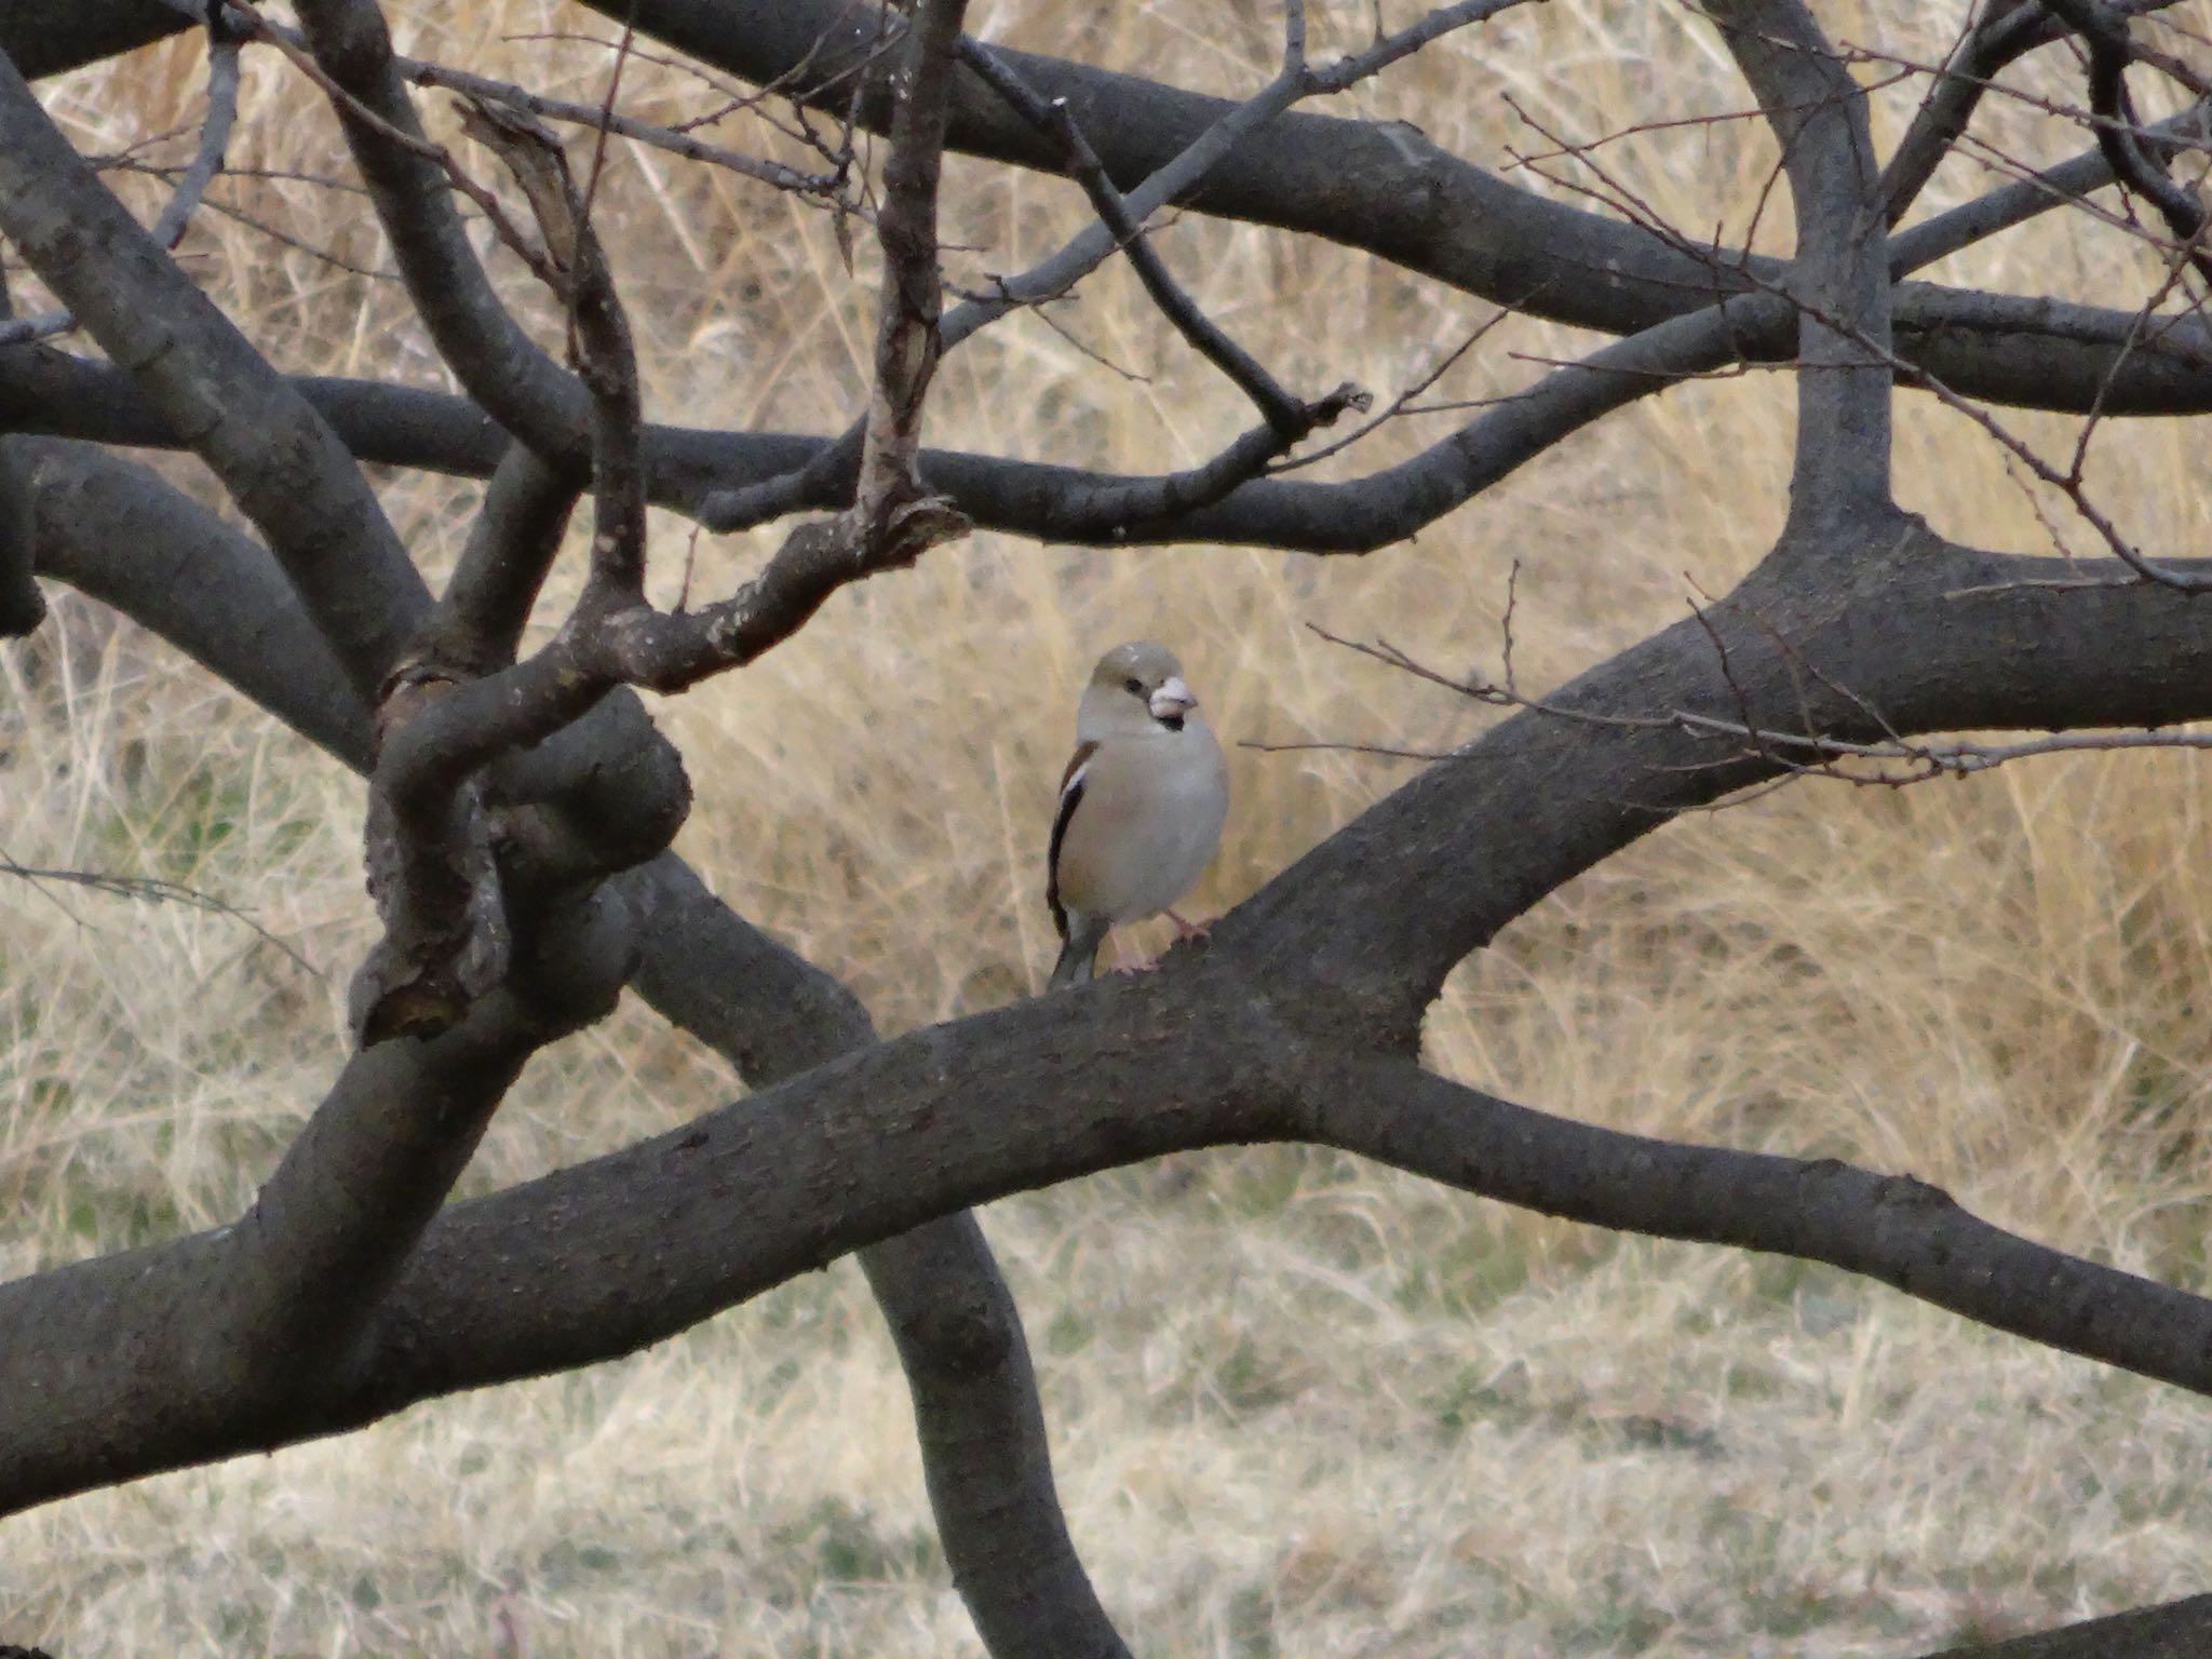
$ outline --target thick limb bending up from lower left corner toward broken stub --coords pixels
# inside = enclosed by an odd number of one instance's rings
[[[606,951],[586,936],[562,947],[566,980],[599,969],[571,1006],[597,1018],[613,995]],[[210,1442],[299,1438],[491,1108],[551,1035],[546,1006],[498,995],[431,1044],[361,1053],[234,1225],[0,1287],[0,1327],[24,1338],[0,1358],[0,1491],[35,1502],[195,1462]]]

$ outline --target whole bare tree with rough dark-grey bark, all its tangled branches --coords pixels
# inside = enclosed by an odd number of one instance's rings
[[[858,91],[863,122],[891,135],[878,352],[849,440],[644,427],[622,301],[566,175],[540,223],[555,252],[535,263],[571,310],[575,372],[542,352],[469,246],[456,173],[422,137],[372,0],[301,0],[305,53],[471,400],[279,374],[18,73],[190,20],[137,0],[66,15],[0,2],[0,49],[15,60],[0,62],[0,230],[108,356],[0,352],[13,434],[0,442],[0,628],[35,624],[33,571],[69,582],[374,770],[385,818],[372,872],[400,967],[438,967],[445,945],[476,938],[480,900],[502,929],[498,953],[438,980],[436,1020],[367,1022],[369,1042],[239,1221],[0,1285],[0,1511],[628,1354],[860,1252],[984,1641],[1000,1659],[1119,1659],[1053,1491],[1020,1314],[967,1206],[1248,1141],[1336,1146],[1593,1225],[1832,1263],[2212,1394],[2212,1301],[1993,1228],[1911,1177],[1621,1135],[1418,1066],[1444,975],[1498,929],[1674,814],[1785,776],[1823,743],[2212,717],[2212,611],[2139,580],[2130,549],[2115,549],[2130,562],[2095,564],[1989,553],[1938,538],[1889,489],[1893,398],[1924,376],[2044,409],[2212,409],[2212,336],[2194,319],[2152,330],[2143,314],[1907,281],[2070,190],[2119,175],[2154,192],[2166,175],[2137,139],[2106,131],[2095,155],[2042,181],[1891,234],[1978,95],[1940,82],[1885,166],[1851,66],[1805,4],[1710,0],[1774,128],[1796,219],[1787,259],[1750,259],[1542,199],[1405,126],[1285,113],[1498,0],[1329,69],[1305,62],[1294,29],[1283,73],[1245,104],[1051,58],[978,58],[951,0],[925,0],[911,24],[843,0],[602,9],[754,82],[792,77],[785,91],[823,108]],[[1958,62],[1991,73],[2079,22],[2099,108],[2117,111],[2137,51],[2126,22],[2051,11],[2033,38],[1989,22]],[[982,80],[956,75],[956,53]],[[1265,429],[1223,447],[1212,471],[1164,478],[918,449],[940,352],[1006,310],[1000,296],[938,314],[947,144],[1084,177],[1099,226],[1031,276],[1130,246],[1146,292],[1254,394]],[[557,148],[538,159],[560,173]],[[1144,263],[1146,215],[1166,204],[1329,237],[1621,338],[1369,478],[1250,476],[1294,442],[1294,400],[1194,316],[1157,259]],[[962,513],[1102,544],[1367,551],[1635,398],[1747,361],[1796,367],[1792,513],[1759,566],[1429,765],[1150,980],[878,1042],[843,984],[666,852],[688,781],[630,688],[752,661],[838,586],[958,533]],[[1298,420],[1321,407],[1298,405]],[[190,449],[265,544],[71,440]],[[438,604],[358,460],[491,478]],[[584,602],[518,659],[586,489]],[[737,595],[664,613],[646,604],[646,498],[708,522],[750,522],[763,502],[847,511],[799,526]],[[602,1018],[626,982],[757,1093],[449,1203],[529,1055]],[[2212,1639],[2205,1608],[1991,1652],[2197,1652]]]

